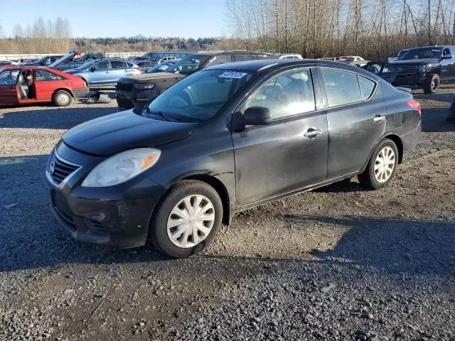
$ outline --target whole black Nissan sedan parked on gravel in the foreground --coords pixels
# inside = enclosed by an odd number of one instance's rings
[[[75,239],[173,257],[203,249],[236,212],[358,175],[390,183],[420,106],[359,67],[257,60],[209,67],[142,112],[70,129],[45,170]]]

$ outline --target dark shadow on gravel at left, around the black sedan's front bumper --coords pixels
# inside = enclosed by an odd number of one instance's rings
[[[0,272],[168,259],[151,245],[120,250],[68,237],[50,212],[44,183],[47,159],[47,155],[0,157]]]

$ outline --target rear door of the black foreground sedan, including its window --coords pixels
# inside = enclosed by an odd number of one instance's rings
[[[328,108],[327,178],[357,173],[385,133],[387,109],[380,84],[355,72],[329,67],[323,76]]]

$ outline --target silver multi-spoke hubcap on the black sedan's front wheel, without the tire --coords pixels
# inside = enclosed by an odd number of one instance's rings
[[[215,208],[208,197],[188,195],[173,207],[168,217],[168,237],[177,247],[195,247],[208,237],[214,223]]]

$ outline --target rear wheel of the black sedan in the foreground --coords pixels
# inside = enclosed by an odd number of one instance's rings
[[[387,155],[386,159],[382,157],[385,154]],[[398,157],[395,142],[390,139],[383,139],[373,151],[365,171],[358,175],[358,180],[370,190],[378,190],[387,186],[397,170]],[[382,163],[382,166],[380,166],[381,159],[386,161]],[[378,169],[375,170],[375,168]]]

